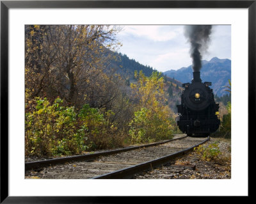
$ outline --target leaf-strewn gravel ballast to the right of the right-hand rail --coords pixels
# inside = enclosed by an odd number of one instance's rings
[[[231,140],[211,138],[203,146],[218,143],[221,155],[218,159],[205,161],[195,152],[188,153],[163,168],[135,175],[134,179],[230,179],[231,178]],[[181,164],[184,168],[173,168],[172,164]],[[195,170],[187,169],[186,164],[195,165]]]

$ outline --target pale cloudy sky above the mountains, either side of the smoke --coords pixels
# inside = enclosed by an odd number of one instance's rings
[[[125,25],[116,37],[122,43],[118,52],[159,72],[192,64],[182,25]],[[202,59],[209,61],[214,57],[231,59],[230,25],[212,26],[211,42]]]

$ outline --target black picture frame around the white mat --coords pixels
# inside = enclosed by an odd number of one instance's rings
[[[122,203],[122,196],[9,196],[8,10],[10,8],[248,8],[248,133],[255,117],[256,1],[1,1],[1,203]],[[243,107],[241,107],[243,108]],[[248,137],[248,139],[250,139]],[[250,143],[248,143],[250,144]],[[252,145],[252,144],[251,144]],[[248,146],[249,150],[249,146]],[[249,152],[248,152],[249,158]],[[249,165],[249,162],[248,162]],[[249,169],[249,166],[248,166]],[[249,173],[249,172],[248,172]],[[250,179],[248,179],[249,184]],[[250,196],[250,191],[248,192]],[[248,196],[248,197],[249,197]],[[188,198],[188,197],[187,197]],[[143,196],[136,198],[142,201]],[[151,200],[150,201],[154,201]]]

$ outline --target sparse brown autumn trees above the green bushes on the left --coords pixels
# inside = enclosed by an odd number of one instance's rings
[[[66,106],[84,104],[109,115],[118,129],[127,129],[133,107],[125,80],[111,67],[120,43],[118,26],[26,26],[26,101],[58,97]]]

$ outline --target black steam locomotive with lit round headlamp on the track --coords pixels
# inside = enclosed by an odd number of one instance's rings
[[[188,136],[209,136],[220,126],[219,104],[214,102],[211,82],[200,79],[200,72],[193,72],[191,83],[182,84],[181,104],[177,105],[176,118],[179,129]]]

